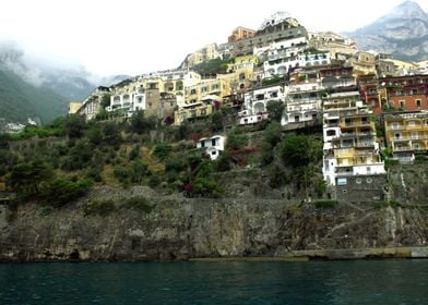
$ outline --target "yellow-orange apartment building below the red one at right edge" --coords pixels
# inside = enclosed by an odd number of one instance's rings
[[[384,114],[384,126],[393,158],[408,162],[428,150],[428,111]]]

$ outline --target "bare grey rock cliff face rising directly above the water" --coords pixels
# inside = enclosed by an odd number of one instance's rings
[[[151,209],[121,206],[150,198]],[[109,198],[116,210],[87,215]],[[85,212],[86,211],[86,212]],[[282,256],[295,249],[419,246],[428,242],[428,210],[261,199],[186,199],[151,190],[99,188],[60,210],[26,206],[0,229],[0,260],[174,260]]]

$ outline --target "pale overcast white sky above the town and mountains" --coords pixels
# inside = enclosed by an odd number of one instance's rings
[[[276,11],[310,30],[347,32],[403,1],[0,0],[0,40],[54,65],[136,75],[177,68],[186,54],[226,42],[237,26],[257,29]],[[428,1],[416,2],[428,11]]]

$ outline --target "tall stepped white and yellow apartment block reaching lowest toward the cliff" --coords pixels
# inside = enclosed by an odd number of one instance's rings
[[[321,71],[321,82],[329,85],[323,100],[322,171],[325,182],[334,186],[346,185],[349,176],[383,175],[385,170],[371,111],[360,100],[352,70],[334,68]]]

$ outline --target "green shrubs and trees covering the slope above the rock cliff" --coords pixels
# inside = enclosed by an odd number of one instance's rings
[[[212,161],[194,141],[223,132],[224,119],[218,111],[179,127],[146,118],[143,111],[120,123],[86,123],[74,115],[57,119],[46,127],[0,135],[0,180],[21,202],[54,207],[72,203],[94,185],[148,185],[190,197],[229,196],[229,188],[240,182],[226,176],[242,170],[246,179],[246,171],[260,175],[263,187],[293,185],[322,196],[319,139],[283,134],[276,121],[252,130],[235,127],[227,132],[226,150]],[[94,204],[92,209],[87,212],[96,213],[98,207]]]

